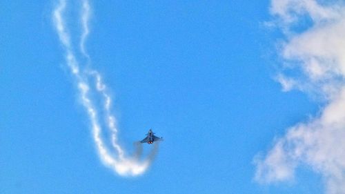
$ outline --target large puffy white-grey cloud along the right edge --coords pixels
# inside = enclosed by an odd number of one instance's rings
[[[324,177],[326,193],[345,193],[345,5],[342,1],[273,0],[270,12],[286,42],[279,50],[291,76],[282,70],[283,90],[298,89],[326,101],[319,115],[288,128],[265,157],[256,159],[258,182],[294,177],[306,164]],[[296,26],[310,23],[302,32]],[[285,67],[286,68],[286,67]]]

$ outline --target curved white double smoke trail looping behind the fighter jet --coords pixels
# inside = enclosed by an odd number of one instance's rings
[[[90,56],[85,48],[86,39],[90,33],[88,21],[90,19],[90,3],[87,0],[81,1],[81,24],[82,33],[79,42],[79,50],[83,57],[88,60],[88,66],[79,65],[79,61],[70,41],[70,33],[63,20],[63,12],[66,9],[66,0],[59,0],[58,5],[53,11],[53,21],[59,40],[65,50],[65,59],[72,76],[77,84],[77,92],[81,99],[81,104],[86,108],[88,119],[92,128],[92,137],[95,142],[99,157],[103,164],[112,168],[119,175],[140,175],[144,173],[158,151],[159,144],[155,144],[152,151],[144,160],[140,160],[142,155],[141,144],[136,144],[136,151],[132,157],[126,156],[124,148],[117,141],[116,119],[111,112],[112,98],[108,93],[107,86],[104,84],[101,74],[90,68]],[[90,82],[92,84],[90,84]],[[97,107],[95,101],[90,96],[101,97],[102,107]],[[103,114],[101,114],[103,113]],[[99,119],[103,115],[102,119]],[[106,142],[102,138],[101,122],[105,122],[104,126],[110,130],[112,148],[108,148]],[[116,152],[112,152],[115,150]]]

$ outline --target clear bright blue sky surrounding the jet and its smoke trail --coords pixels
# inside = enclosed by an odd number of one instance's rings
[[[311,160],[286,182],[255,178],[255,158],[267,164],[277,137],[325,104],[276,81],[277,45],[290,37],[265,23],[270,1],[90,1],[86,50],[112,94],[119,144],[132,152],[149,128],[164,137],[137,177],[101,163],[56,4],[0,2],[0,193],[331,193]],[[67,3],[72,42],[79,11]]]

